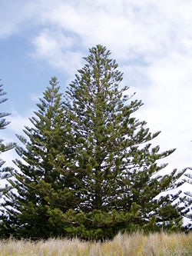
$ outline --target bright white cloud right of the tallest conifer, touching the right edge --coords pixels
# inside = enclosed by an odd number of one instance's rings
[[[192,120],[190,118],[192,62],[189,56],[172,53],[145,68],[150,85],[145,87],[145,105],[137,114],[153,131],[162,134],[155,142],[164,148],[177,148],[171,167],[191,166]],[[140,90],[144,91],[144,88]]]

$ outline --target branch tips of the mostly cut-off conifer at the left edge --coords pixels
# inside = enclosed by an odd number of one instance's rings
[[[5,91],[3,91],[2,88],[3,85],[0,85],[0,97],[6,95],[7,93]],[[0,104],[4,103],[5,101],[7,101],[8,98],[1,98],[0,100]],[[7,117],[8,115],[10,115],[9,113],[5,113],[5,112],[0,112],[0,130],[5,129],[6,126],[10,123],[10,121],[6,121],[5,117]],[[12,149],[14,147],[13,143],[8,143],[5,145],[5,143],[3,142],[3,139],[0,139],[0,153],[8,151],[10,149]],[[0,159],[0,178],[8,178],[10,177],[10,173],[9,171],[11,170],[11,168],[2,168],[2,165],[5,164],[5,161],[3,161],[2,159]]]

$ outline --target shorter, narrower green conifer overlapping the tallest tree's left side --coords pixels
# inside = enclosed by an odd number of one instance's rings
[[[25,147],[16,147],[22,159],[15,160],[18,170],[5,194],[5,214],[2,234],[18,238],[48,238],[58,235],[48,222],[51,208],[65,212],[74,207],[73,191],[68,189],[68,147],[64,108],[57,79],[51,78],[50,86],[37,104],[35,117],[30,118],[31,128],[25,127],[25,135],[17,135]],[[72,187],[72,186],[71,186]],[[15,189],[13,189],[15,188]]]

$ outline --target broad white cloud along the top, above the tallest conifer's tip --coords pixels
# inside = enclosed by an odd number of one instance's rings
[[[124,60],[151,60],[187,44],[182,38],[189,34],[190,9],[181,1],[58,1],[41,13],[41,22],[78,35],[80,48],[101,42]]]

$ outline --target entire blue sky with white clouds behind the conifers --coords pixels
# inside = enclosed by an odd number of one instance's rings
[[[135,117],[161,134],[151,143],[161,151],[166,171],[192,167],[192,2],[190,0],[0,0],[0,78],[8,101],[1,111],[11,124],[5,142],[18,142],[30,126],[35,104],[58,77],[65,92],[88,49],[111,51],[122,86],[144,105]],[[13,165],[14,151],[1,155]],[[188,187],[191,189],[191,187]]]

